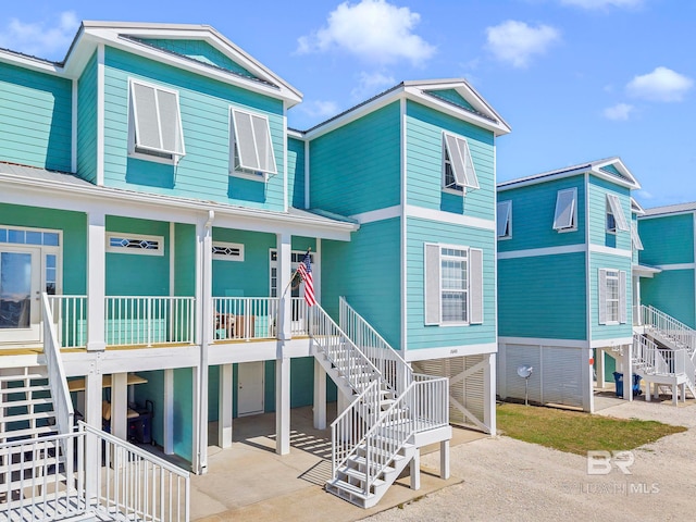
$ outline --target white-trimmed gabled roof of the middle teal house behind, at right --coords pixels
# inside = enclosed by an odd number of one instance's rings
[[[560,179],[584,173],[589,173],[594,176],[607,179],[630,189],[641,188],[641,184],[635,177],[633,177],[633,174],[631,174],[621,159],[619,157],[613,157],[604,160],[589,161],[587,163],[580,163],[577,165],[567,166],[557,171],[543,172],[533,176],[501,182],[498,184],[498,191],[519,188],[526,185],[546,183],[551,179]]]

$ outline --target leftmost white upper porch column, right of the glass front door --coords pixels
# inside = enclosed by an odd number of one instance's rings
[[[87,350],[102,351],[104,340],[104,295],[107,288],[107,216],[87,214]]]

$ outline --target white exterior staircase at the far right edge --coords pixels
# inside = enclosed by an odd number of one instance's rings
[[[641,323],[633,335],[634,372],[648,386],[669,387],[674,403],[687,389],[696,397],[696,331],[654,307],[641,307]]]

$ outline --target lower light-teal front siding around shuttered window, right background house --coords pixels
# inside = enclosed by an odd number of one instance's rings
[[[626,322],[625,324],[599,324],[599,269],[626,272]],[[642,279],[645,281],[645,279]],[[589,253],[589,310],[592,339],[611,339],[633,335],[633,285],[631,283],[631,258],[607,253]]]

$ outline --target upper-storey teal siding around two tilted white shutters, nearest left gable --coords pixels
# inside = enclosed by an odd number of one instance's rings
[[[128,78],[179,94],[186,156],[176,167],[128,158]],[[108,48],[104,184],[269,210],[284,209],[284,117],[279,100]],[[268,183],[229,176],[229,107],[269,117],[278,174]]]

